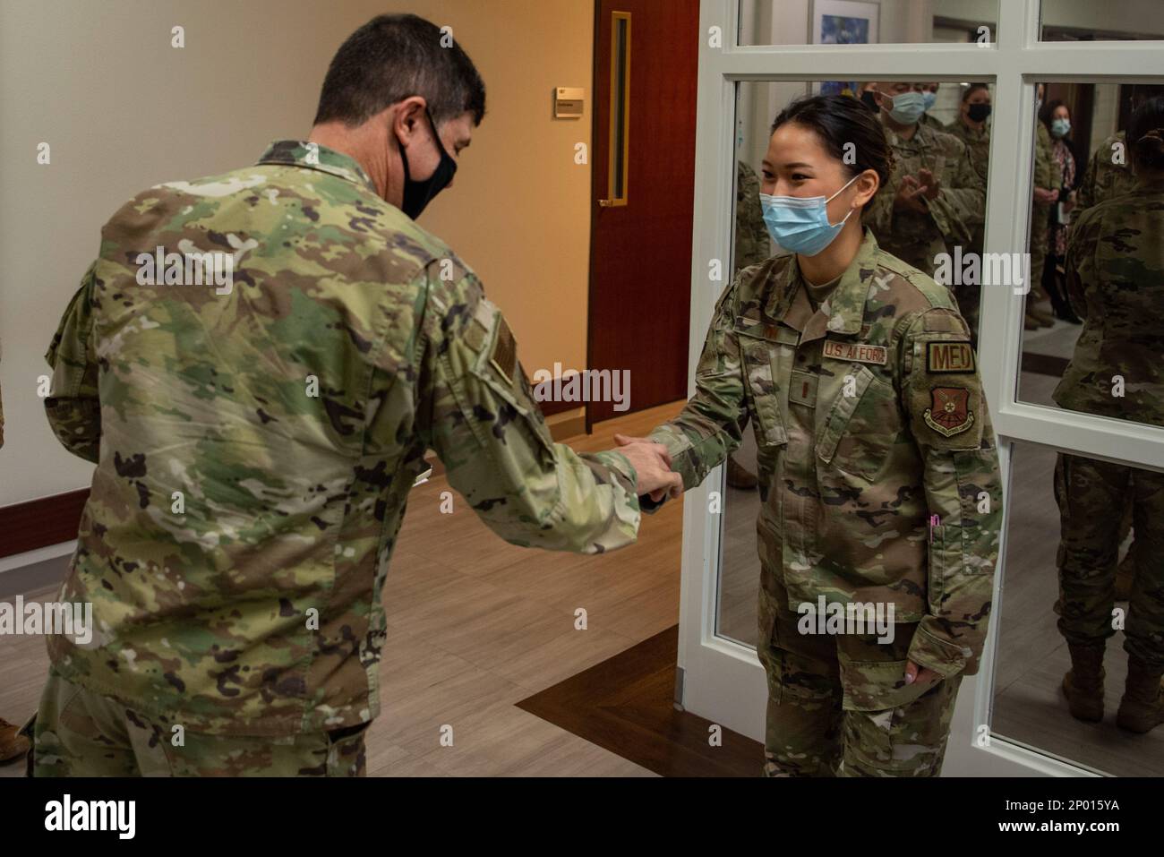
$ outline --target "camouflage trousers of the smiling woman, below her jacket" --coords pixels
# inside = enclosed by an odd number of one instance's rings
[[[802,635],[801,617],[769,597],[761,588],[761,632],[772,621],[757,646],[768,675],[764,775],[937,777],[961,675],[906,684],[916,623],[894,625],[888,643]]]

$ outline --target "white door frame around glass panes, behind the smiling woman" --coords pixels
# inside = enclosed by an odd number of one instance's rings
[[[1027,249],[1029,187],[1037,80],[1081,83],[1164,82],[1162,41],[1039,42],[1038,0],[999,0],[998,31],[989,45],[921,43],[875,45],[739,47],[741,0],[703,0],[696,112],[695,218],[691,254],[691,324],[688,395],[714,305],[728,281],[710,282],[710,260],[730,271],[734,203],[736,84],[746,80],[914,79],[994,84],[991,169],[986,203],[987,253]],[[710,47],[718,28],[721,48]],[[819,69],[828,69],[822,75]],[[936,75],[942,69],[944,73]],[[1112,73],[1112,69],[1128,71]],[[726,275],[725,275],[726,276]],[[1023,299],[1010,289],[984,289],[980,373],[999,438],[1003,497],[1009,509],[1012,444],[1024,441],[1090,458],[1164,470],[1164,431],[1156,426],[1064,411],[1015,399],[1022,350]],[[680,685],[687,710],[762,741],[767,686],[755,651],[716,635],[722,515],[708,512],[709,495],[723,490],[723,467],[686,495],[680,588]],[[1005,557],[1009,520],[1000,533]],[[978,675],[961,684],[946,750],[945,771],[961,775],[1093,775],[988,734],[1003,569],[994,579],[995,621]],[[982,739],[982,727],[986,738]]]

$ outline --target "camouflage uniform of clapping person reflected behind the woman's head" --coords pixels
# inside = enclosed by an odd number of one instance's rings
[[[883,125],[883,118],[882,118]],[[889,180],[865,210],[864,222],[881,248],[923,274],[934,275],[935,258],[970,243],[973,228],[982,222],[986,185],[974,169],[966,144],[945,132],[918,123],[909,140],[885,127],[896,161]],[[928,169],[938,177],[936,199],[922,200],[925,214],[895,210],[893,205],[904,176],[918,177]]]

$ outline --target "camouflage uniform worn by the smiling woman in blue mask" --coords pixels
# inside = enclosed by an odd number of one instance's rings
[[[744,413],[759,448],[766,771],[826,773],[844,757],[847,773],[937,773],[949,680],[978,671],[1002,514],[991,418],[949,291],[867,229],[816,312],[794,254],[744,270],[716,306],[695,396],[652,437],[691,488],[739,445]],[[818,596],[893,605],[896,640],[794,645],[787,615]],[[945,681],[906,685],[907,656]]]

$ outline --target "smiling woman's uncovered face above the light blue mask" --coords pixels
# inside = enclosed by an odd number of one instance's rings
[[[761,169],[760,190],[774,197],[828,198],[852,178],[845,165],[824,148],[816,132],[796,122],[776,128],[768,140]],[[845,217],[854,199],[866,196],[861,190],[864,184],[853,182],[828,204],[830,224]]]

